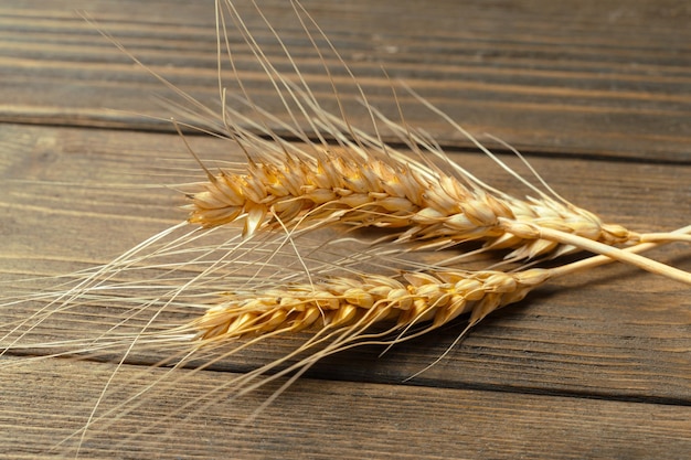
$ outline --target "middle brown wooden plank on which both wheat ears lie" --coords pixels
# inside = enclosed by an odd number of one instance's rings
[[[176,192],[141,188],[157,174],[155,181],[174,183],[174,170],[170,176],[160,175],[168,165],[195,168],[177,136],[11,125],[0,129],[4,139],[13,139],[0,147],[4,215],[0,254],[7,279],[106,263],[184,218],[174,210],[182,203]],[[241,159],[232,142],[192,141],[204,158]],[[453,159],[493,184],[519,190],[504,174],[487,168],[486,158]],[[566,159],[535,159],[534,165],[557,190],[610,222],[661,231],[683,226],[690,214],[689,167]],[[114,182],[116,186],[108,188]],[[689,268],[684,245],[653,254]],[[603,267],[551,284],[497,313],[415,382],[688,404],[689,306],[685,288],[673,281],[632,268]],[[117,319],[115,310],[109,313]],[[29,313],[14,309],[3,314],[7,322]],[[88,332],[78,319],[65,321],[56,330],[76,338]],[[108,321],[111,317],[104,319],[105,324]],[[445,329],[401,345],[382,360],[376,359],[380,347],[353,352],[327,361],[312,375],[401,382],[439,356],[458,330]],[[304,336],[259,345],[215,368],[246,370],[266,363],[300,340]],[[161,357],[142,359],[152,363]]]

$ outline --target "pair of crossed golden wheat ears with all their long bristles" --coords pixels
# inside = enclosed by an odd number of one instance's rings
[[[163,377],[149,382],[130,398],[97,415],[113,376],[108,379],[83,429],[70,437],[79,445],[96,425],[103,424],[98,429],[105,430],[108,417],[134,410],[137,398],[151,389],[172,388],[177,378],[173,371],[195,360],[203,361],[196,368],[204,368],[278,334],[307,330],[312,335],[294,353],[232,379],[219,392],[236,398],[293,375],[289,384],[327,355],[365,343],[400,343],[469,313],[460,338],[490,312],[523,299],[548,280],[613,260],[691,284],[691,274],[637,254],[663,243],[689,242],[691,227],[644,234],[607,224],[546,184],[542,183],[546,188],[542,191],[512,171],[535,196],[519,199],[504,193],[453,164],[434,140],[408,127],[404,119],[393,121],[371,107],[353,79],[372,119],[374,135],[368,133],[352,126],[340,103],[338,115],[320,106],[268,22],[298,83],[272,65],[230,1],[216,3],[219,54],[225,49],[234,65],[224,35],[231,20],[264,67],[293,124],[257,107],[242,83],[243,94],[235,100],[251,108],[256,119],[230,106],[221,83],[220,113],[173,87],[189,107],[176,107],[177,116],[189,120],[176,120],[176,126],[196,122],[203,125],[202,130],[222,130],[223,137],[245,152],[246,167],[212,172],[198,160],[205,181],[182,186],[189,199],[187,222],[103,267],[67,276],[52,290],[2,302],[3,308],[29,302],[39,308],[31,315],[3,324],[1,354],[50,349],[50,356],[115,355],[121,365],[136,352],[170,352],[170,357],[159,363],[171,366],[164,374],[166,383]],[[310,28],[318,30],[340,60],[307,11],[297,2],[293,4],[309,40],[315,43]],[[316,43],[315,47],[323,62]],[[344,63],[343,67],[352,77]],[[328,68],[326,72],[330,77]],[[156,77],[172,87],[161,76]],[[333,89],[338,101],[336,85]],[[429,103],[418,100],[448,119]],[[308,128],[301,127],[298,115]],[[288,136],[281,137],[266,121]],[[491,164],[510,170],[470,133],[449,122],[485,151]],[[384,142],[379,126],[394,132],[410,152]],[[301,140],[302,146],[289,137]],[[378,227],[386,234],[370,238],[365,243],[371,246],[354,254],[342,254],[336,249],[338,240],[307,243],[326,227],[342,233]],[[449,259],[453,264],[446,263],[450,267],[408,258],[413,250],[457,248],[475,240],[483,242],[480,252],[499,254],[493,263],[522,265],[511,270],[468,270],[458,266],[463,261],[458,256]],[[503,249],[511,252],[504,254]],[[577,250],[599,256],[551,268],[530,267],[535,260]],[[62,315],[97,314],[94,312],[102,304],[120,310],[116,320],[95,329],[93,336],[45,340],[51,321]],[[171,320],[168,313],[179,310],[185,312],[184,318]],[[0,366],[19,364],[11,361]],[[203,405],[194,410],[203,410]]]

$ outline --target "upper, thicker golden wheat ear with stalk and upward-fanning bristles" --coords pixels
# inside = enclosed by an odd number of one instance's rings
[[[539,190],[511,171],[446,114],[406,87],[423,107],[448,121],[496,165],[529,186],[535,196],[517,199],[480,181],[451,162],[434,140],[407,126],[402,110],[401,122],[394,122],[371,107],[328,38],[299,3],[294,3],[294,9],[331,82],[339,113],[331,114],[319,104],[298,64],[266,18],[262,15],[288,60],[294,78],[272,64],[232,3],[217,3],[219,56],[226,55],[242,92],[242,96],[232,100],[248,108],[259,121],[231,108],[220,82],[221,113],[205,110],[198,121],[206,118],[210,126],[225,129],[226,136],[242,147],[249,161],[243,172],[220,169],[214,175],[208,174],[208,182],[188,193],[190,204],[185,208],[190,212],[190,223],[211,228],[241,222],[246,237],[264,229],[313,229],[334,223],[358,228],[375,226],[390,229],[392,240],[415,242],[417,247],[425,249],[482,240],[487,250],[512,249],[506,256],[512,261],[589,250],[691,284],[691,276],[682,270],[623,253],[616,247],[653,240],[688,242],[688,236],[631,232],[620,225],[607,224],[597,215],[573,205],[553,193],[544,181],[548,193]],[[257,11],[261,14],[258,8]],[[242,84],[225,32],[226,21],[235,24],[266,73],[285,109],[285,117],[258,107]],[[316,35],[327,43],[357,87],[372,119],[375,136],[349,121],[325,54],[310,26],[317,30]],[[407,145],[412,154],[384,142],[379,136],[379,124]],[[305,131],[302,125],[308,126],[309,131]],[[289,142],[269,126],[301,140],[305,147]],[[336,146],[330,146],[329,139]],[[443,170],[444,165],[448,172]]]

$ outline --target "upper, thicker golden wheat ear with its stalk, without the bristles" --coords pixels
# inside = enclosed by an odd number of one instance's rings
[[[189,222],[214,227],[244,220],[243,235],[279,222],[319,227],[333,222],[357,227],[405,228],[397,242],[449,245],[486,240],[488,249],[517,248],[512,259],[586,249],[681,282],[691,275],[610,247],[676,235],[640,235],[555,200],[521,201],[470,189],[449,175],[423,174],[405,164],[363,161],[348,153],[308,162],[288,158],[281,165],[253,162],[247,174],[210,175],[204,192],[190,195]]]

